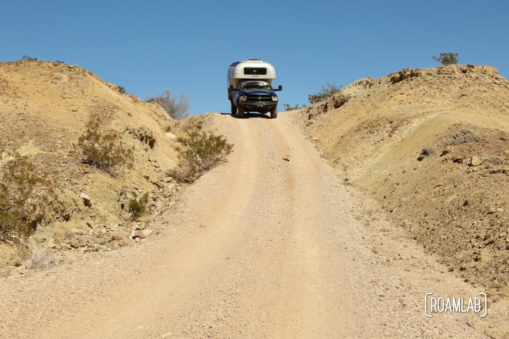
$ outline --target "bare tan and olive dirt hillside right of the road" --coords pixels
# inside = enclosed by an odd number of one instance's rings
[[[495,68],[364,78],[292,116],[449,271],[507,292],[509,81]]]

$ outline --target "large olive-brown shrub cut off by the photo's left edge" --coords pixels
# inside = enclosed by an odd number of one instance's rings
[[[36,166],[18,153],[0,170],[0,240],[9,234],[29,235],[42,221],[51,187],[44,186]]]

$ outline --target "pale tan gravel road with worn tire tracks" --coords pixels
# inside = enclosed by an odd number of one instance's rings
[[[424,316],[426,292],[478,291],[340,182],[284,114],[211,119],[234,152],[161,215],[161,234],[3,280],[0,336],[484,337],[474,315]]]

